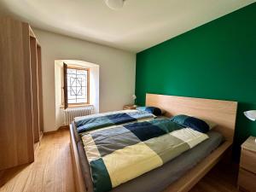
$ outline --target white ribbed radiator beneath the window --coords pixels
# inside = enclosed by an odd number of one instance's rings
[[[86,116],[93,113],[93,106],[64,109],[65,125],[69,125],[75,117]]]

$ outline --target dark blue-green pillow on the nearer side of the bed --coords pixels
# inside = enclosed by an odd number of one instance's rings
[[[171,121],[203,133],[206,133],[207,131],[212,129],[212,125],[208,123],[209,121],[206,122],[205,120],[191,117],[185,114],[176,115],[172,117]]]

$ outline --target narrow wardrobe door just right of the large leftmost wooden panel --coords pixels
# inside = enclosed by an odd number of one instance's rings
[[[38,53],[37,39],[30,37],[30,62],[32,79],[32,115],[33,115],[33,133],[34,143],[39,142],[39,101],[38,101]]]

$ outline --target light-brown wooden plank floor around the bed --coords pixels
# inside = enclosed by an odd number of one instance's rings
[[[0,172],[1,192],[74,192],[69,132],[43,137],[35,162]],[[218,164],[190,192],[235,192],[237,167]]]

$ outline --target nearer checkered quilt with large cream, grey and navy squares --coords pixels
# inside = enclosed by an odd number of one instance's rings
[[[109,191],[162,166],[208,138],[206,134],[177,125],[170,119],[101,126],[80,131],[80,136],[95,192]]]

